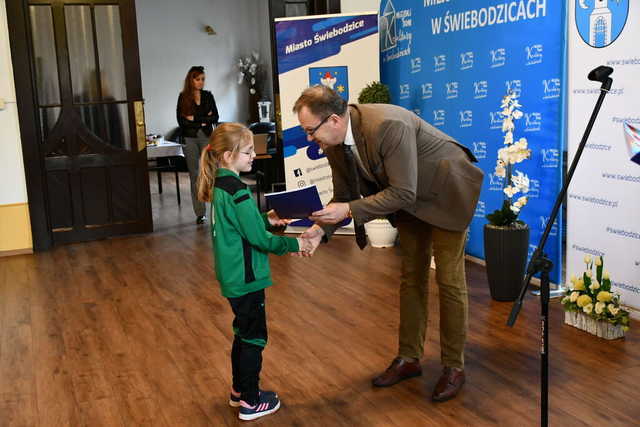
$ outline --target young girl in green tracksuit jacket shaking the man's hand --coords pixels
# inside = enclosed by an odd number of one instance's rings
[[[310,251],[307,239],[276,236],[269,226],[285,225],[274,211],[260,214],[239,173],[251,170],[253,134],[238,123],[223,123],[200,157],[198,198],[213,203],[211,227],[216,277],[235,318],[231,350],[233,385],[229,404],[252,420],[278,410],[274,392],[258,389],[262,350],[267,343],[264,288],[271,286],[268,253]]]

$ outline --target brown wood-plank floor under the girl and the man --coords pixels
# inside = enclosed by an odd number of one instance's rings
[[[162,195],[152,185],[153,234],[0,259],[0,425],[240,424],[227,406],[232,316],[181,179],[179,209],[169,181]],[[423,376],[371,387],[395,355],[398,269],[395,249],[361,253],[344,236],[311,259],[272,257],[261,385],[282,408],[255,424],[539,424],[538,301],[527,297],[506,327],[511,304],[490,299],[471,263],[461,395],[429,400],[440,372],[436,287]],[[606,342],[563,325],[553,304],[551,425],[638,425],[638,326]]]

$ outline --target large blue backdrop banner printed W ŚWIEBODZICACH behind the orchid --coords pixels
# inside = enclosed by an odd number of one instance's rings
[[[469,147],[485,180],[470,226],[467,253],[484,259],[485,215],[502,206],[494,174],[504,146],[500,104],[519,95],[524,116],[514,138],[527,138],[531,158],[515,165],[530,178],[520,219],[531,229],[529,257],[562,184],[566,10],[563,1],[382,0],[380,61],[392,102]],[[519,196],[522,194],[518,194]],[[562,271],[562,217],[545,252]]]

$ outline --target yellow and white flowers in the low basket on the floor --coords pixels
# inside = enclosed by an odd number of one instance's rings
[[[571,276],[571,286],[562,298],[564,310],[584,313],[587,316],[614,326],[621,326],[623,331],[629,329],[629,312],[620,305],[620,295],[611,292],[611,278],[604,270],[602,257],[595,260],[590,255],[584,257],[586,270],[582,277]],[[593,265],[596,266],[595,277]]]

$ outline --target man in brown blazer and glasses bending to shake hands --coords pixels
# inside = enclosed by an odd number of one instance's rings
[[[333,90],[302,92],[293,111],[309,141],[324,150],[333,175],[333,199],[310,218],[305,237],[314,250],[345,218],[353,218],[362,248],[362,225],[388,216],[402,250],[397,357],[373,379],[391,386],[422,374],[428,277],[435,258],[440,297],[442,375],[432,394],[448,400],[465,381],[467,285],[464,247],[483,173],[471,152],[414,113],[394,105],[349,105]]]

